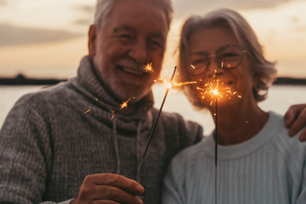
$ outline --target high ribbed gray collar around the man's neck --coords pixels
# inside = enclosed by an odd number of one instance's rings
[[[89,56],[83,57],[80,62],[77,78],[72,79],[71,82],[79,91],[88,97],[91,97],[93,100],[97,98],[97,103],[103,106],[104,109],[115,111],[118,117],[121,117],[119,105],[122,102],[112,98],[99,82],[93,71],[92,61]],[[144,120],[147,118],[147,113],[153,107],[153,104],[153,94],[152,91],[150,91],[149,94],[135,104],[136,107],[132,114],[124,116],[124,120]]]

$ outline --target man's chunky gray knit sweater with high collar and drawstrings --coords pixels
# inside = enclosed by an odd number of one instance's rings
[[[69,203],[89,174],[135,179],[158,110],[152,93],[131,115],[120,115],[120,104],[101,86],[88,56],[68,83],[20,98],[0,131],[0,203]],[[138,180],[145,204],[160,202],[169,160],[202,133],[178,114],[161,114]]]

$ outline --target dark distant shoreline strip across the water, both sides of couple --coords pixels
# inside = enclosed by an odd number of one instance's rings
[[[1,85],[53,85],[59,82],[67,81],[67,79],[31,79],[19,74],[16,78],[0,78]],[[306,79],[278,77],[274,85],[306,85]]]

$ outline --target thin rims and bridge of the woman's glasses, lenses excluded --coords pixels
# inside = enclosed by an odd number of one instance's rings
[[[227,48],[227,47],[229,47],[229,46],[235,46],[235,47],[240,48],[239,45],[227,44],[227,45],[225,45],[225,46],[219,47],[219,48],[216,50],[215,54],[207,54],[207,52],[196,52],[196,53],[189,54],[188,56],[194,55],[194,54],[198,54],[198,53],[201,53],[201,54],[203,53],[203,54],[206,55],[207,59],[209,59],[209,60],[208,60],[208,63],[207,63],[207,65],[206,65],[205,69],[203,69],[203,70],[204,70],[203,72],[200,72],[199,74],[192,74],[192,73],[190,73],[190,72],[188,71],[188,69],[186,70],[186,72],[187,72],[189,75],[191,75],[191,76],[199,76],[199,75],[203,74],[203,73],[207,70],[207,68],[209,67],[209,65],[210,65],[210,63],[211,63],[210,58],[211,58],[211,57],[215,57],[215,58],[216,58],[217,53],[218,53],[220,50],[225,49],[225,48]],[[242,60],[243,60],[243,54],[244,54],[244,53],[247,53],[247,50],[245,50],[244,48],[242,48],[240,51],[241,51],[241,53],[242,53],[242,54],[241,54],[241,59],[240,59],[239,63],[238,63],[236,66],[233,66],[233,67],[222,67],[222,66],[221,66],[220,68],[221,68],[221,69],[235,69],[235,68],[237,68],[237,67],[241,64],[241,62],[242,62]],[[222,62],[221,62],[221,61],[218,61],[217,58],[216,58],[216,61],[217,61],[218,63],[222,64]]]

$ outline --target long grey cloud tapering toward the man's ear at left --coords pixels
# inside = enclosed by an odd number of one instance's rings
[[[49,43],[84,36],[82,33],[65,30],[47,30],[39,28],[17,27],[0,24],[0,47],[33,43]]]

